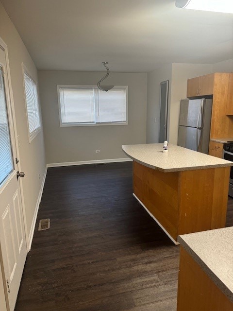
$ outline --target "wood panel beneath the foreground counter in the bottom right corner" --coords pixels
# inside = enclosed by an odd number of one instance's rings
[[[181,246],[177,311],[232,311],[233,303]]]

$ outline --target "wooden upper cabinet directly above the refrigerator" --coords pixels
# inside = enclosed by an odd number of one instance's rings
[[[206,74],[201,77],[188,79],[187,97],[213,95],[215,74]]]

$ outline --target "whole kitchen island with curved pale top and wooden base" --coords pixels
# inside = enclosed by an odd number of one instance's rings
[[[233,162],[169,144],[123,145],[133,159],[133,195],[175,243],[225,227]]]

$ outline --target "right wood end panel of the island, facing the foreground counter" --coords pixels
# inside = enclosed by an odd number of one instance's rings
[[[229,178],[230,167],[180,172],[178,235],[225,227]]]

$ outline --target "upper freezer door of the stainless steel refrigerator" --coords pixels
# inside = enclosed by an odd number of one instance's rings
[[[181,100],[179,125],[201,127],[202,101],[202,99]]]

